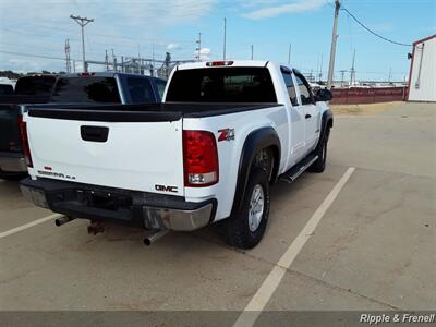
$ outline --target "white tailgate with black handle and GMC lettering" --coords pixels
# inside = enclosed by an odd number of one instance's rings
[[[183,195],[182,118],[162,114],[31,110],[31,175]]]

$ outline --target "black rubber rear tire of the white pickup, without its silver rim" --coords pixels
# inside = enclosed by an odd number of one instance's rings
[[[249,215],[251,210],[252,194],[257,185],[263,190],[264,205],[261,222],[258,223],[258,227],[252,231],[249,223]],[[261,242],[269,216],[269,183],[268,173],[265,170],[257,167],[252,168],[242,201],[241,210],[234,216],[222,220],[222,222],[219,223],[218,229],[228,245],[239,249],[252,249]]]

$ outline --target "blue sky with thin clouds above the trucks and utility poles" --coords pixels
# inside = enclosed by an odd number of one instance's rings
[[[0,0],[0,70],[64,71],[64,44],[81,68],[80,26],[70,14],[94,19],[85,27],[86,58],[121,56],[164,60],[194,59],[202,33],[202,59],[288,62],[304,73],[327,75],[334,0]],[[342,5],[375,33],[412,44],[436,33],[436,0],[342,0]],[[355,49],[358,80],[403,81],[412,47],[377,38],[340,12],[335,77],[349,71]],[[323,63],[323,64],[322,64]],[[92,70],[101,70],[92,66]],[[349,72],[344,73],[349,78]]]

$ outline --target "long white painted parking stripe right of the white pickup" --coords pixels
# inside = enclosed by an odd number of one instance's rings
[[[315,231],[316,226],[323,218],[324,214],[334,203],[339,192],[342,190],[343,185],[347,183],[348,179],[354,172],[355,168],[350,167],[347,169],[346,173],[341,177],[339,182],[335,185],[335,187],[330,191],[320,206],[316,209],[315,214],[304,226],[303,230],[300,234],[294,239],[292,244],[288,247],[287,252],[281,256],[280,261],[272,268],[271,272],[267,276],[267,278],[262,283],[261,288],[254,294],[250,303],[245,306],[242,314],[239,316],[238,320],[233,326],[253,326],[259,316],[261,312],[265,308],[269,299],[276,291],[277,287],[280,284],[281,279],[283,278],[287,269],[291,266],[301,249],[307,242],[307,240],[312,237]]]

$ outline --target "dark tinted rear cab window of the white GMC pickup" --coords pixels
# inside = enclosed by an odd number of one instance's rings
[[[207,68],[174,72],[166,101],[277,102],[266,68]]]

